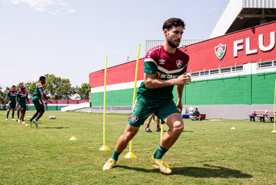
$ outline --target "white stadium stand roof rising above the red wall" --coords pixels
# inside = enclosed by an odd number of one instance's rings
[[[209,39],[276,20],[276,0],[229,0]]]

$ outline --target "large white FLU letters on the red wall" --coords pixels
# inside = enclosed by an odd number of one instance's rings
[[[234,57],[238,57],[238,51],[243,50],[243,39],[239,39],[234,41]],[[264,35],[259,35],[259,49],[261,51],[270,51],[275,46],[275,31],[270,32],[270,44],[268,46],[264,46]],[[253,53],[258,53],[258,49],[250,48],[250,38],[245,39],[245,53],[246,55],[250,55]]]

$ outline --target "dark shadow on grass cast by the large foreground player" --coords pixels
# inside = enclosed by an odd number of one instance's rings
[[[177,167],[171,168],[172,175],[184,175],[189,177],[198,177],[198,178],[252,178],[252,175],[241,173],[239,170],[233,170],[230,168],[225,168],[223,166],[210,166],[204,164],[205,167]],[[145,169],[145,168],[133,168],[130,166],[117,166],[117,168],[125,168],[127,170],[137,170],[145,173],[160,173],[158,169]]]

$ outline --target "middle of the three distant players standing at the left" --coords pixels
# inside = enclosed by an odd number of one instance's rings
[[[28,104],[30,104],[28,100],[28,91],[25,90],[25,87],[23,84],[19,85],[20,90],[17,91],[16,100],[17,100],[17,106],[19,107],[21,117],[18,119],[18,123],[20,123],[20,120],[23,124],[25,124],[24,116],[26,113],[26,100],[28,101]]]

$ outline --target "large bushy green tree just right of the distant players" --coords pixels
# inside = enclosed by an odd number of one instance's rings
[[[67,78],[56,77],[53,74],[46,74],[45,94],[52,100],[71,99],[76,94],[76,88],[71,87]]]

